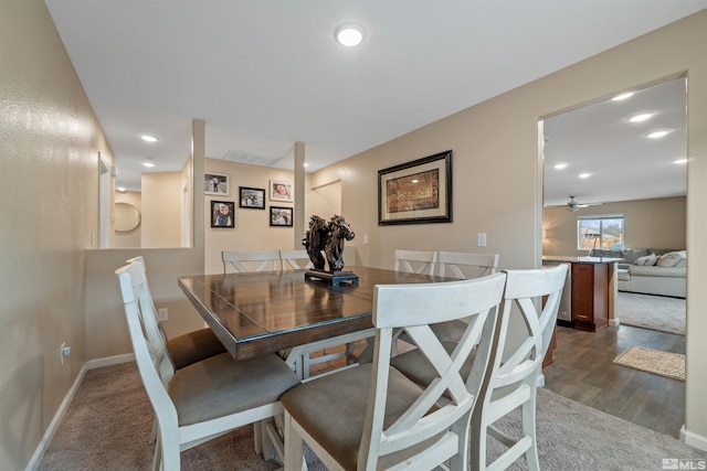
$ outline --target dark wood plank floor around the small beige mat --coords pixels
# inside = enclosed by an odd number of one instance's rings
[[[685,336],[630,325],[599,332],[558,327],[555,362],[544,370],[545,385],[569,399],[679,438],[685,383],[614,364],[631,345],[684,354]]]

